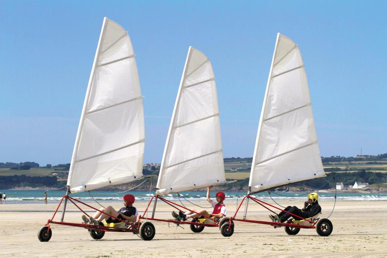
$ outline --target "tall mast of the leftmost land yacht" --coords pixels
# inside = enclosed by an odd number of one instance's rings
[[[87,103],[89,102],[89,98],[90,98],[91,85],[93,84],[94,75],[95,75],[95,72],[96,72],[96,63],[97,63],[97,59],[98,59],[98,56],[99,56],[99,52],[101,52],[101,42],[102,42],[102,39],[103,39],[103,37],[105,35],[105,31],[106,31],[106,28],[107,28],[107,21],[108,21],[108,18],[104,17],[103,24],[102,24],[102,29],[101,29],[101,34],[99,35],[96,55],[94,56],[94,62],[93,62],[92,68],[91,68],[89,84],[87,84],[86,98],[85,98],[85,101],[83,103],[82,113],[80,115],[79,126],[78,126],[78,131],[77,131],[77,137],[75,138],[74,150],[73,150],[73,155],[72,155],[71,163],[70,163],[70,169],[69,169],[69,173],[68,173],[68,180],[67,180],[68,184],[67,184],[66,196],[68,196],[68,194],[70,193],[69,182],[71,182],[72,172],[74,170],[75,157],[77,156],[78,147],[79,147],[79,141],[80,141],[80,135],[81,135],[83,123],[84,123],[84,120],[85,120],[86,106],[87,106]],[[60,218],[61,222],[63,222],[63,218],[65,217],[66,205],[67,205],[67,198],[65,199],[65,203],[64,203],[64,206],[63,206],[62,217]]]

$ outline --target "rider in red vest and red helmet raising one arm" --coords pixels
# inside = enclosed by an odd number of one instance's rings
[[[226,216],[227,210],[226,205],[223,204],[224,199],[226,198],[226,195],[222,192],[218,192],[215,194],[216,201],[212,201],[210,199],[210,189],[212,186],[208,187],[207,189],[207,201],[211,203],[211,206],[214,208],[212,213],[207,212],[206,210],[200,210],[199,212],[196,210],[193,210],[194,212],[187,211],[183,213],[182,211],[179,211],[179,214],[177,214],[175,211],[172,212],[172,216],[174,218],[182,218],[183,221],[186,221],[188,218],[197,218],[204,215],[205,217],[216,217],[216,218],[222,218],[223,216]]]

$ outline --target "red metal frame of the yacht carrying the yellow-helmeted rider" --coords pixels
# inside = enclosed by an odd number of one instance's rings
[[[239,209],[240,209],[240,207],[241,207],[241,205],[243,203],[243,201],[245,201],[246,198],[253,200],[255,203],[258,203],[259,205],[261,205],[262,207],[266,208],[267,210],[269,210],[272,213],[276,213],[276,212],[272,211],[270,208],[268,208],[265,205],[268,205],[268,206],[271,206],[273,208],[276,208],[277,210],[280,210],[282,212],[286,212],[286,213],[290,214],[291,216],[295,216],[297,218],[300,218],[301,220],[306,220],[307,222],[310,222],[313,225],[312,226],[308,226],[308,225],[300,225],[300,224],[293,224],[293,223],[272,222],[272,221],[262,221],[262,220],[247,220],[247,219],[235,218],[236,214],[238,213],[238,211],[239,211]],[[262,203],[264,203],[264,204],[262,204]],[[280,208],[277,208],[276,206],[273,206],[273,205],[271,205],[269,203],[265,203],[264,201],[261,201],[261,200],[259,200],[257,198],[254,198],[254,197],[250,196],[250,194],[247,194],[245,197],[243,197],[243,199],[242,199],[240,205],[238,206],[238,209],[236,210],[234,216],[230,218],[230,223],[229,223],[228,229],[230,229],[231,221],[233,221],[233,220],[241,221],[241,222],[257,223],[257,224],[266,224],[266,225],[271,225],[271,226],[274,226],[274,227],[295,227],[295,228],[301,228],[301,229],[315,229],[316,228],[315,225],[317,224],[317,221],[313,222],[312,220],[307,220],[305,218],[301,218],[300,216],[297,216],[297,215],[295,215],[293,213],[287,212],[287,211],[282,210]],[[288,220],[288,221],[290,221],[290,220]]]

